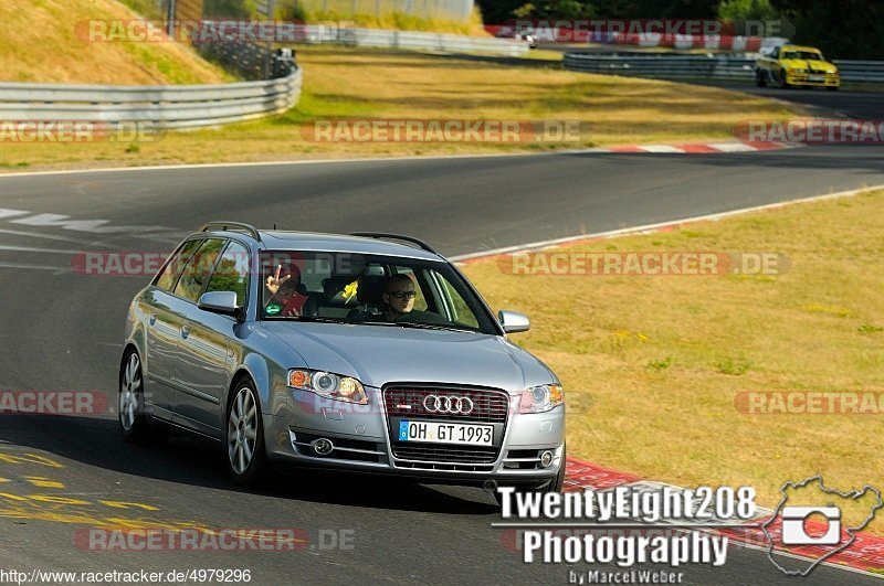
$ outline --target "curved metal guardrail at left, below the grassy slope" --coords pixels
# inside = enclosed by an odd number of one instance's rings
[[[287,77],[224,85],[107,86],[0,84],[0,120],[139,122],[197,128],[287,110],[301,97],[302,71]]]

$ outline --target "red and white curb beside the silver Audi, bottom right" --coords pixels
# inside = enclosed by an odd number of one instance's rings
[[[652,482],[643,480],[635,475],[628,472],[620,472],[610,468],[585,462],[575,458],[568,458],[565,477],[565,492],[580,492],[583,489],[591,488],[596,490],[606,490],[614,487],[636,487],[636,488],[662,488],[672,484],[662,482]],[[677,488],[677,487],[676,487]],[[753,548],[767,551],[769,541],[766,537],[760,523],[770,519],[774,514],[771,509],[757,508],[758,514],[755,519],[747,521],[747,526],[743,528],[715,528],[714,523],[709,523],[708,529],[696,531],[704,531],[717,535],[727,536],[728,540],[739,543]],[[672,522],[673,529],[677,529],[677,522]],[[656,525],[654,529],[661,529]],[[781,536],[781,526],[779,522],[771,523],[768,528],[770,537],[779,540]],[[872,533],[857,532],[855,541],[850,547],[829,556],[822,562],[822,565],[839,567],[842,569],[859,571],[862,573],[873,573],[884,571],[884,537],[874,535]],[[517,548],[518,537],[513,532],[506,532],[501,537],[502,543],[509,550]],[[778,555],[788,555],[790,557],[801,560],[817,560],[825,555],[825,550],[814,546],[793,546],[793,547],[776,547]],[[880,577],[880,574],[873,574]]]

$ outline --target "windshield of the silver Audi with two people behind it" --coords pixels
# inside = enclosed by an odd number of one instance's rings
[[[354,253],[263,252],[261,318],[498,334],[449,264]]]

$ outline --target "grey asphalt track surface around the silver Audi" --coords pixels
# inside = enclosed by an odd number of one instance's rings
[[[456,255],[884,184],[882,156],[880,147],[808,147],[0,178],[0,209],[25,212],[0,212],[0,388],[96,390],[114,403],[126,307],[147,279],[75,274],[71,257],[78,251],[168,252],[201,223],[233,219],[292,230],[393,231]],[[65,227],[57,224],[64,219],[35,214],[105,220],[103,228],[120,232]],[[81,417],[0,415],[0,508],[6,569],[249,568],[255,584],[559,584],[568,569],[587,567],[523,563],[492,529],[498,510],[477,489],[311,475],[243,491],[228,481],[212,445],[183,437],[165,447],[125,445],[106,409]],[[76,544],[78,529],[107,518],[297,528],[311,546],[109,553]],[[351,550],[322,547],[340,530],[352,532]],[[690,584],[785,582],[764,552],[733,545],[724,567],[678,571]],[[820,567],[801,582],[873,580]]]

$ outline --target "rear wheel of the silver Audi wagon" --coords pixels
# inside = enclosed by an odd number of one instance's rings
[[[130,444],[159,445],[169,438],[166,426],[147,413],[141,356],[134,348],[126,350],[119,365],[117,423],[120,436]]]

